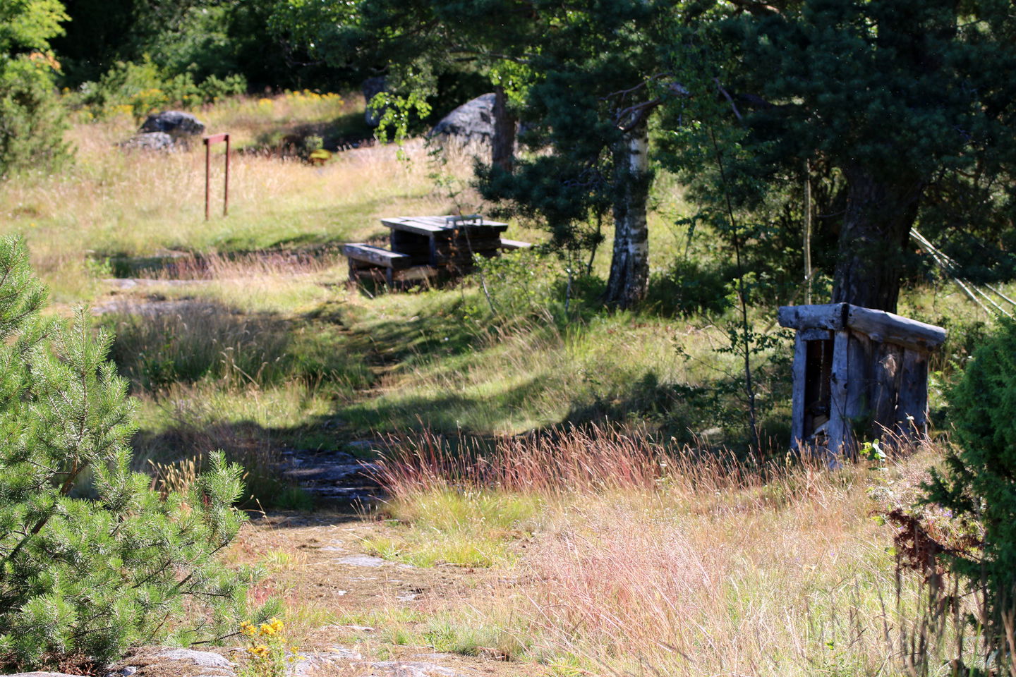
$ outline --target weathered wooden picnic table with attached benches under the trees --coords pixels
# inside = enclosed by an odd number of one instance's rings
[[[458,277],[473,268],[473,257],[491,258],[502,251],[528,247],[505,240],[507,223],[483,216],[394,216],[382,218],[391,229],[390,250],[363,243],[346,245],[350,281],[368,279],[415,282],[437,277]]]

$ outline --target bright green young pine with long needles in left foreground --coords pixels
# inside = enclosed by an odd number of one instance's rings
[[[0,241],[0,661],[219,636],[245,602],[215,561],[244,520],[241,469],[213,454],[186,494],[150,490],[130,471],[135,404],[112,337],[85,311],[42,319],[45,302],[23,246]]]

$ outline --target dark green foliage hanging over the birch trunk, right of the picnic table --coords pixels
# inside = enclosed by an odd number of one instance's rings
[[[677,6],[629,1],[541,5],[528,30],[520,31],[528,41],[516,47],[526,54],[524,60],[504,60],[511,66],[499,65],[497,74],[510,78],[514,98],[524,98],[521,119],[527,131],[520,141],[532,150],[553,147],[554,152],[523,156],[512,173],[478,166],[478,187],[507,214],[549,230],[557,246],[591,250],[604,240],[602,221],[611,207],[617,213],[628,209],[628,155],[618,152],[622,128],[645,124],[656,106],[639,108],[656,93],[654,44],[665,40],[661,31]]]

